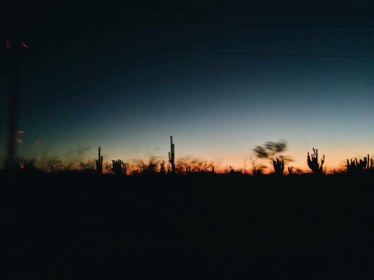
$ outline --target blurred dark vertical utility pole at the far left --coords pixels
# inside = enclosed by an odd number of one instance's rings
[[[7,41],[8,52],[12,56],[12,71],[10,85],[10,108],[9,108],[9,127],[7,139],[7,156],[5,168],[12,168],[16,164],[16,136],[18,120],[18,84],[19,84],[19,49],[21,42],[17,36],[12,41]]]

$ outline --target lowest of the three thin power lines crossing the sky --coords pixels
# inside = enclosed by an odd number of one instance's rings
[[[160,49],[132,49],[132,48],[125,48],[125,50],[140,51],[140,52],[201,53],[201,54],[216,54],[216,55],[254,55],[254,56],[303,56],[303,57],[374,58],[374,56],[285,55],[285,54],[274,54],[274,53],[202,52],[202,51],[193,51],[193,50],[160,50]]]

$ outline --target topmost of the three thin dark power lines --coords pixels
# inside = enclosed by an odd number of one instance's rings
[[[256,11],[256,10],[181,10],[181,9],[151,9],[151,8],[132,8],[134,10],[145,10],[145,11],[154,11],[154,12],[213,12],[213,13],[338,13],[338,14],[362,14],[362,13],[374,13],[374,12],[365,12],[365,11],[356,11],[356,12],[336,12],[336,11],[316,11],[316,12],[309,12],[309,11]]]

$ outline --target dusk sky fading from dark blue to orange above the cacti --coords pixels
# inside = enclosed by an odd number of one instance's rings
[[[374,12],[374,4],[246,2],[4,7],[0,158],[14,22],[28,46],[20,52],[19,158],[94,159],[101,146],[104,161],[167,161],[170,136],[177,160],[236,168],[249,168],[255,146],[279,139],[294,159],[288,165],[305,170],[313,147],[327,168],[374,157],[373,58],[227,54],[373,57],[374,27],[218,23],[374,26],[373,13],[284,13]]]

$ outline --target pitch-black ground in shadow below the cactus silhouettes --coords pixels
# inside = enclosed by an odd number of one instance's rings
[[[2,271],[6,279],[373,277],[373,178],[212,175],[2,174]]]

